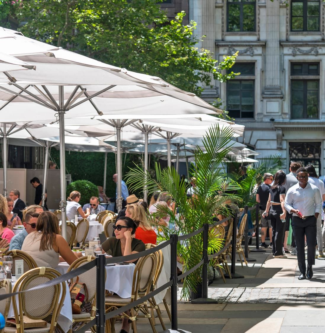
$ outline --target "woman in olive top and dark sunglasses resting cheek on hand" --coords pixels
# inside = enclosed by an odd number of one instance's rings
[[[145,251],[146,246],[144,243],[141,240],[132,237],[136,228],[137,225],[132,218],[126,216],[120,217],[113,226],[115,237],[108,238],[102,244],[103,252],[105,251],[113,257],[120,257],[122,255],[124,256]],[[137,261],[138,259],[134,259],[129,260],[128,262],[137,263]],[[128,312],[129,311],[126,311],[126,313]],[[119,333],[128,333],[129,330],[130,324],[128,318],[123,318],[122,328]]]

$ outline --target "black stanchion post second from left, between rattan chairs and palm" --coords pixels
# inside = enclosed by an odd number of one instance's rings
[[[177,234],[171,234],[173,242],[170,244],[170,279],[173,284],[170,287],[171,294],[171,329],[177,331]]]

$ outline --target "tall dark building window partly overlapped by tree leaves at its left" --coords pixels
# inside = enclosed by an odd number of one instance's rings
[[[236,63],[231,70],[240,75],[227,82],[229,116],[254,118],[255,63]]]

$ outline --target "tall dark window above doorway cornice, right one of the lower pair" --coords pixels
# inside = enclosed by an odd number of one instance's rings
[[[319,63],[291,64],[291,118],[319,118]]]

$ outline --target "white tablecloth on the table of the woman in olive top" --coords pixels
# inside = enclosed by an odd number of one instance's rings
[[[68,270],[68,263],[60,262],[56,268],[61,274],[65,274]],[[106,282],[105,289],[118,294],[122,298],[131,297],[133,272],[135,264],[105,266]],[[94,276],[96,279],[96,276]]]

